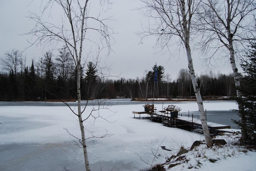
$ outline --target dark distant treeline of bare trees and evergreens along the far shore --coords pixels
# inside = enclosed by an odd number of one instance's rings
[[[17,50],[5,54],[1,64],[9,73],[0,73],[0,100],[76,100],[76,68],[74,61],[64,47],[54,57],[46,52],[37,63],[24,65],[24,57]],[[17,62],[18,61],[18,62]],[[85,71],[84,71],[85,69]],[[157,69],[157,80],[155,70]],[[82,99],[95,98],[184,98],[194,96],[188,69],[180,69],[178,78],[171,80],[164,73],[164,67],[152,67],[144,78],[106,79],[100,77],[97,65],[87,63],[81,66]],[[234,77],[198,76],[202,96],[236,96]]]

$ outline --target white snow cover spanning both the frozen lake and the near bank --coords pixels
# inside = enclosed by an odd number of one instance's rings
[[[164,163],[166,158],[176,155],[180,147],[189,149],[194,141],[204,140],[201,134],[165,127],[151,120],[134,119],[132,111],[142,111],[142,104],[118,105],[120,100],[116,101],[110,110],[100,110],[100,116],[107,118],[108,122],[98,118],[95,122],[90,119],[86,124],[86,129],[94,136],[102,136],[106,130],[112,134],[87,141],[92,171],[110,171],[113,167],[113,171],[147,170],[150,168],[148,163]],[[196,102],[176,102],[175,105],[185,112],[198,110]],[[204,106],[209,111],[237,109],[234,101],[210,101],[205,102]],[[88,106],[85,114],[92,107]],[[156,103],[155,107],[161,110],[162,104]],[[72,109],[76,110],[76,107],[72,106]],[[97,112],[94,114],[98,115]],[[0,171],[84,170],[82,148],[64,130],[66,128],[72,135],[80,137],[77,123],[66,106],[1,106]],[[88,137],[91,136],[90,132],[87,131]],[[254,171],[256,152],[231,145],[238,139],[235,135],[224,138],[228,142],[224,148],[207,149],[201,145],[186,154],[189,161],[171,170]],[[212,163],[209,159],[216,159],[216,162]]]

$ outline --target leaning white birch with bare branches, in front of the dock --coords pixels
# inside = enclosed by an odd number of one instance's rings
[[[202,123],[202,129],[208,147],[212,146],[212,138],[210,136],[209,128],[206,122],[206,116],[204,112],[204,105],[200,94],[200,88],[196,81],[196,75],[192,62],[192,54],[190,49],[190,34],[192,26],[192,16],[196,11],[198,3],[195,0],[141,0],[144,4],[140,10],[144,11],[144,15],[154,20],[154,24],[149,25],[148,28],[144,28],[142,38],[156,35],[157,46],[160,46],[162,50],[170,49],[172,47],[172,41],[177,37],[179,42],[185,47],[188,69],[194,92],[196,94],[196,100],[198,109],[200,112],[200,120]]]

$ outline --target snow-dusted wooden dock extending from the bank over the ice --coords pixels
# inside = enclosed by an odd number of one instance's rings
[[[188,130],[191,132],[197,132],[203,134],[202,124],[199,119],[196,118],[188,118],[185,116],[178,116],[178,118],[172,118],[170,114],[165,111],[156,111],[156,112],[132,112],[134,114],[134,118],[137,119],[151,119],[154,122],[160,122],[164,124],[164,126],[181,128],[184,130]],[[139,117],[135,117],[135,114],[139,114]],[[141,116],[141,114],[147,114],[147,116]],[[212,122],[207,122],[210,134],[218,135],[220,131],[219,129],[230,129],[228,125],[216,124]]]

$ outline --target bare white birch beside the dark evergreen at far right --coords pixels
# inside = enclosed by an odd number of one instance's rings
[[[240,73],[238,72],[236,57],[251,39],[255,39],[254,14],[255,0],[201,0],[198,8],[197,28],[200,45],[206,53],[212,52],[206,59],[208,63],[216,57],[229,58],[234,74],[237,98],[242,97],[240,91]],[[224,53],[223,53],[224,52]],[[224,55],[223,55],[224,54]],[[239,100],[238,100],[239,101]],[[239,111],[243,111],[238,103]],[[239,112],[242,140],[248,138],[246,131],[246,117]]]

